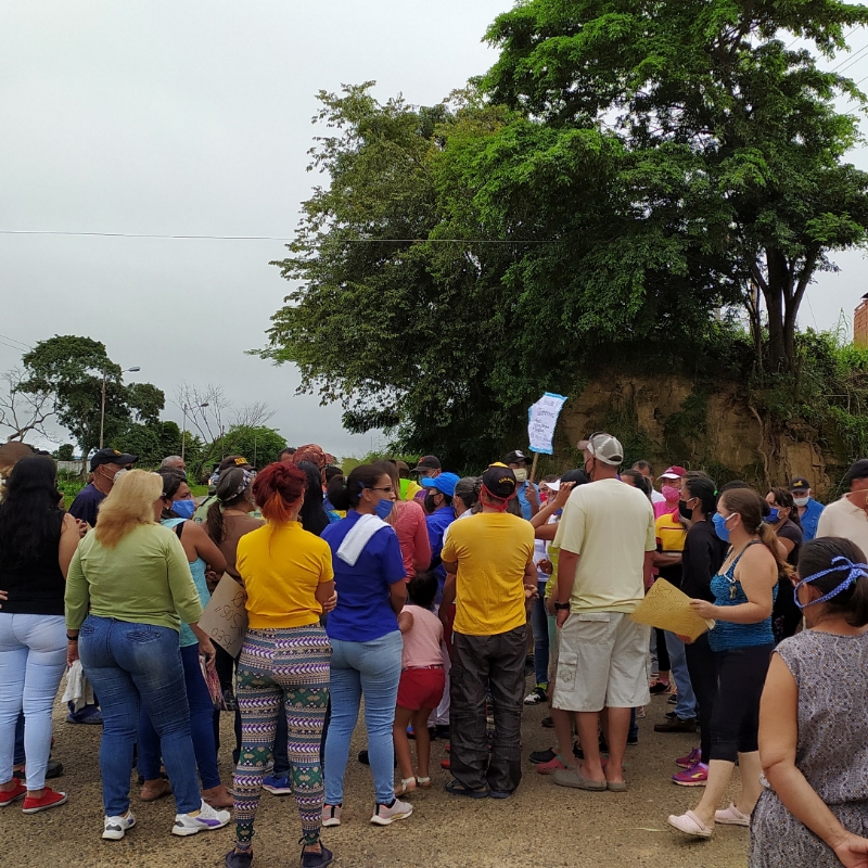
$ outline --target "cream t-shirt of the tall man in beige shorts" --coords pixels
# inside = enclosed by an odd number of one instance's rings
[[[656,549],[651,502],[620,480],[579,485],[553,545],[579,556],[571,612],[633,612],[644,597],[644,553]]]

